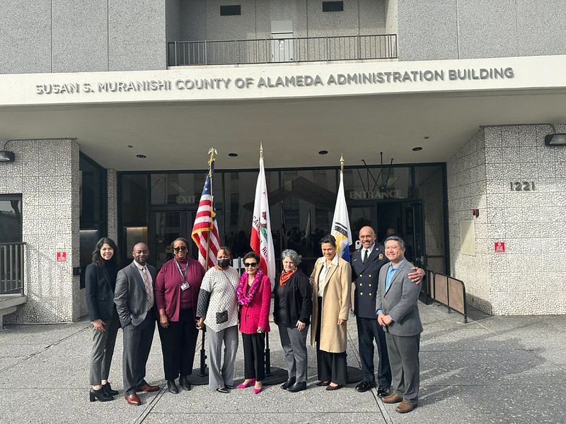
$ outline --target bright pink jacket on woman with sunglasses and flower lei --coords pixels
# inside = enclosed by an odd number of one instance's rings
[[[248,293],[250,286],[244,287],[244,295]],[[270,307],[271,307],[271,283],[268,276],[262,276],[260,288],[255,293],[248,306],[242,306],[240,312],[240,331],[243,334],[254,334],[258,332],[258,326],[263,331],[270,331]]]

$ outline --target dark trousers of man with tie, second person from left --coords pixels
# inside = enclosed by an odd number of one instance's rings
[[[137,387],[143,386],[145,382],[147,358],[149,358],[151,342],[154,341],[154,314],[150,311],[139,325],[134,326],[130,322],[122,330],[124,332],[122,353],[124,394],[134,394]]]

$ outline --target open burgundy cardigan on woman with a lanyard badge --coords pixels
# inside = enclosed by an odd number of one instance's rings
[[[190,284],[192,315],[197,319],[197,303],[199,299],[200,283],[204,277],[204,268],[200,262],[190,259],[187,262],[187,281]],[[165,314],[169,321],[176,322],[179,320],[179,305],[181,301],[181,284],[183,276],[181,276],[175,259],[166,261],[159,270],[155,283],[155,301],[157,310],[165,309]]]

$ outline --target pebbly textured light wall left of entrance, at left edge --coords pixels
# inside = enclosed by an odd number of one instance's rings
[[[5,322],[69,322],[86,314],[79,266],[79,145],[74,140],[11,141],[16,161],[0,167],[0,194],[22,194],[25,295]],[[67,260],[57,262],[57,252]]]

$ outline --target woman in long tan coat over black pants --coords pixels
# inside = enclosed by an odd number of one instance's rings
[[[347,383],[346,322],[350,312],[350,264],[336,254],[336,240],[326,235],[320,240],[323,257],[311,274],[313,315],[311,344],[316,343],[318,386],[340,389]]]

